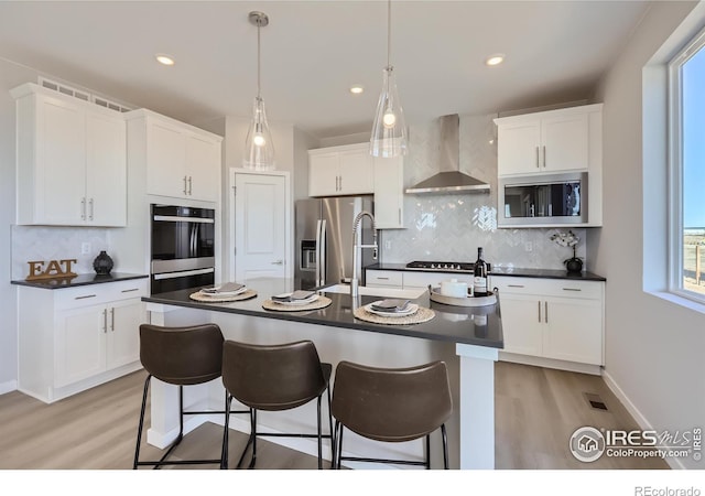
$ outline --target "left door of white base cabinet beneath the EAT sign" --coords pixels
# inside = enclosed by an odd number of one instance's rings
[[[55,387],[66,386],[105,370],[107,324],[105,305],[56,313]]]

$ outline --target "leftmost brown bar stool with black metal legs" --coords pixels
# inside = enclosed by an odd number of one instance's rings
[[[184,438],[184,416],[225,414],[225,409],[223,411],[184,411],[184,386],[205,384],[220,377],[224,341],[220,327],[216,324],[185,327],[163,327],[151,324],[140,325],[140,360],[149,375],[144,380],[142,410],[140,412],[140,424],[137,432],[137,446],[134,449],[134,463],[132,468],[137,468],[139,465],[153,465],[154,468],[160,468],[162,465],[210,463],[220,465],[223,463],[221,457],[174,461],[167,461],[166,459]],[[178,386],[180,429],[178,435],[160,460],[140,461],[144,409],[147,407],[147,395],[152,377],[163,382]],[[223,456],[223,449],[220,450],[220,456]]]

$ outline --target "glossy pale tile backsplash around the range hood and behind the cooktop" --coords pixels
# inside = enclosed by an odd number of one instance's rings
[[[497,141],[495,116],[460,116],[460,170],[490,184],[490,193],[406,194],[405,229],[382,233],[381,261],[412,260],[475,261],[482,247],[485,260],[496,267],[564,269],[571,248],[551,241],[556,229],[497,228]],[[437,120],[410,127],[409,155],[404,159],[404,187],[441,171],[437,163]],[[567,229],[561,229],[567,230]],[[577,256],[587,268],[587,229],[572,229],[579,238]],[[389,248],[387,248],[389,244]]]

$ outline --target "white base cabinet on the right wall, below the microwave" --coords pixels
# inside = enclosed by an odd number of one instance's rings
[[[600,366],[601,281],[492,276],[499,290],[505,352]]]

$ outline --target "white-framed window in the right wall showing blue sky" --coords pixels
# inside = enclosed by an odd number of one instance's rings
[[[705,302],[705,32],[670,65],[670,290]]]

